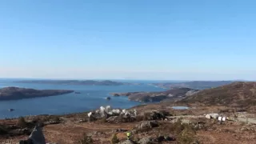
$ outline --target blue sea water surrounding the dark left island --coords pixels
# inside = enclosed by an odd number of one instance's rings
[[[81,94],[63,94],[44,98],[29,98],[0,102],[0,118],[17,118],[26,115],[38,114],[70,114],[98,109],[100,106],[112,106],[114,108],[130,108],[138,106],[140,102],[129,101],[127,97],[106,97],[113,92],[133,91],[163,91],[162,88],[149,86],[146,83],[141,86],[73,86],[52,84],[27,84],[17,83],[18,79],[0,79],[0,88],[17,86],[38,90],[74,90]],[[129,81],[138,82],[138,81]],[[142,82],[142,81],[139,81]],[[153,82],[153,81],[152,81]],[[14,111],[9,111],[14,109]]]

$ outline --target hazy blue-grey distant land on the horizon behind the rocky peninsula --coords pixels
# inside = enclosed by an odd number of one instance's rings
[[[190,89],[205,90],[218,86],[228,85],[235,81],[191,81],[191,82],[166,82],[166,83],[152,83],[152,86],[159,86],[162,88],[173,89],[180,87],[187,87]]]

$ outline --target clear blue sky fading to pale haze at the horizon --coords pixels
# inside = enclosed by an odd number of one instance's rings
[[[0,78],[256,80],[255,0],[2,0]]]

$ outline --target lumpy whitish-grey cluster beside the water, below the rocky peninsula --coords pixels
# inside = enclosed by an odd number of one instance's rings
[[[95,112],[88,113],[88,117],[90,118],[92,115],[99,115],[101,118],[105,117],[106,114],[109,115],[130,115],[130,116],[137,116],[137,110],[126,110],[126,109],[112,109],[111,106],[101,106],[99,110],[95,110]]]

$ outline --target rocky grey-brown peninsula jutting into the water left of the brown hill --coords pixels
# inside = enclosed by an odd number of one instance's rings
[[[180,99],[192,95],[198,90],[190,88],[177,88],[162,92],[128,92],[113,93],[113,96],[127,96],[132,101],[139,102],[161,102],[166,99]]]

